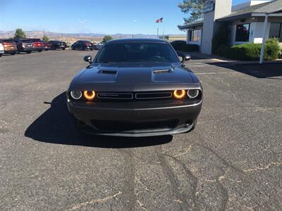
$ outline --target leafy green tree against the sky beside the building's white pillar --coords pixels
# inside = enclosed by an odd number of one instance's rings
[[[183,18],[185,24],[203,18],[204,0],[183,0],[182,3],[178,4],[178,7],[183,13],[189,14],[189,18]]]

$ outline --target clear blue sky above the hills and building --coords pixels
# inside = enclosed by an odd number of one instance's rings
[[[0,31],[183,34],[182,0],[0,0]],[[224,0],[221,0],[224,1]],[[233,0],[239,4],[247,0]],[[158,18],[164,23],[156,23]]]

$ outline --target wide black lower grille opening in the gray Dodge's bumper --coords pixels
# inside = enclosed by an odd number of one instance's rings
[[[174,129],[178,120],[158,120],[150,122],[125,122],[92,120],[94,128],[107,132],[154,132]]]

